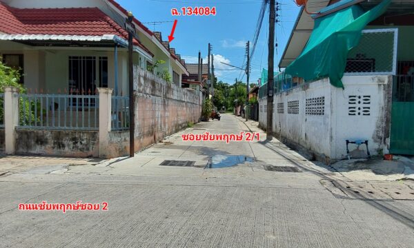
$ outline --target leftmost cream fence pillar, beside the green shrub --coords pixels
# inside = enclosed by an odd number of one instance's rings
[[[19,125],[19,95],[17,87],[4,87],[4,131],[6,154],[14,154],[16,126]]]

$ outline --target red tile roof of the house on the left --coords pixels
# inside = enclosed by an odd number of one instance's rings
[[[128,40],[128,32],[99,8],[19,9],[0,2],[0,32],[90,36],[115,34]],[[134,45],[153,55],[137,39],[134,39]]]

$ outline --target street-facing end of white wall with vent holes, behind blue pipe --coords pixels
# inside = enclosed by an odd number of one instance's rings
[[[332,154],[335,158],[346,155],[346,139],[368,140],[371,154],[380,151],[388,153],[392,82],[391,76],[344,76],[342,83],[345,90],[333,87],[333,105],[338,109],[333,112],[332,119]],[[348,107],[353,107],[349,104],[349,96],[357,97],[355,116],[348,114]],[[359,96],[362,98],[359,99]],[[364,100],[364,96],[368,98]],[[359,107],[362,109],[358,110]],[[368,107],[369,115],[361,112],[364,107]],[[352,147],[355,148],[355,145]],[[361,146],[360,149],[365,147]]]

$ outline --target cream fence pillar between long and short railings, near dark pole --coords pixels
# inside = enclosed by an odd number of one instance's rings
[[[112,89],[98,88],[99,92],[99,158],[108,157]]]

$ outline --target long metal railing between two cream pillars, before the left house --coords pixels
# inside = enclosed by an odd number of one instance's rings
[[[48,130],[99,130],[99,96],[19,94],[19,126]]]

